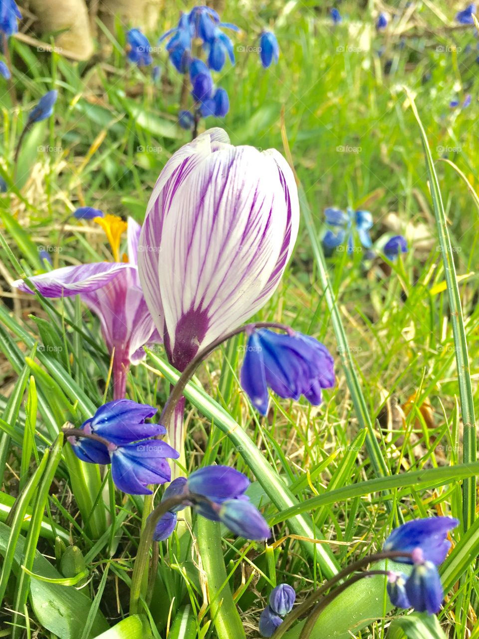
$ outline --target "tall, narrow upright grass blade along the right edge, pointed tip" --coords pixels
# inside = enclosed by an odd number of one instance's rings
[[[462,305],[460,300],[459,285],[453,260],[453,250],[448,232],[446,213],[439,189],[434,161],[427,141],[426,132],[422,125],[421,118],[414,103],[414,98],[406,89],[414,118],[418,123],[424,155],[429,174],[430,194],[436,216],[437,233],[439,235],[439,246],[443,256],[443,265],[446,276],[448,300],[451,313],[452,332],[454,337],[455,357],[457,365],[457,377],[459,379],[459,399],[460,410],[462,412],[462,423],[464,424],[464,448],[462,461],[467,464],[476,460],[476,420],[474,414],[473,389],[471,385],[471,371],[469,370],[468,343],[466,341],[466,331],[464,330],[464,320],[462,318]],[[476,516],[476,478],[469,477],[462,485],[462,525],[467,530],[473,523]]]

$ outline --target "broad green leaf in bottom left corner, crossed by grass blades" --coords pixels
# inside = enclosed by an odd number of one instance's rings
[[[10,537],[10,528],[0,523],[0,552],[5,554]],[[15,546],[13,571],[18,574],[21,569],[25,539],[20,535]],[[43,557],[35,551],[32,571],[44,577],[59,579],[61,574]],[[91,607],[91,600],[73,586],[60,586],[45,581],[31,581],[30,599],[33,612],[38,622],[59,637],[59,639],[78,639],[79,620],[86,619]],[[104,632],[108,627],[105,617],[98,612],[91,637]]]

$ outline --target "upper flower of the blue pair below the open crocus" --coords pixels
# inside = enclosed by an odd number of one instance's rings
[[[86,433],[99,435],[111,443],[123,446],[156,435],[166,435],[161,424],[147,424],[157,409],[149,404],[137,404],[131,399],[115,399],[100,406],[95,415],[82,424]]]

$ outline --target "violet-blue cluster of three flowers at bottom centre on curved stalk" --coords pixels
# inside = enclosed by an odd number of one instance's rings
[[[153,539],[167,539],[176,527],[176,513],[186,506],[206,519],[220,521],[240,537],[268,539],[271,534],[268,524],[245,495],[249,484],[246,475],[229,466],[205,466],[195,470],[188,479],[174,479],[163,493],[162,502],[180,496],[185,501],[160,518]]]

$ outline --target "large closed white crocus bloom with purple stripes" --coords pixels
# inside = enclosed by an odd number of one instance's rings
[[[296,183],[275,150],[232,146],[220,128],[167,162],[149,199],[139,277],[179,371],[273,295],[298,235]],[[169,433],[177,449],[183,433]]]

